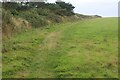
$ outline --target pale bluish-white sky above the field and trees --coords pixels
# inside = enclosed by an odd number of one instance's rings
[[[55,2],[56,0],[47,0]],[[103,17],[118,16],[118,2],[120,0],[63,0],[75,6],[74,12],[86,15],[100,15]]]

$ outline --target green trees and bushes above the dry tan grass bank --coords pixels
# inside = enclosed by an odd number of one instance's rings
[[[74,15],[75,7],[65,2],[4,2],[3,8],[13,16],[28,20],[33,27],[41,27],[47,25],[47,20],[61,22],[61,16]]]

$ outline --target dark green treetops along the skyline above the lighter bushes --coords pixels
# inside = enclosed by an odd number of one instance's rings
[[[6,0],[7,1],[7,0]],[[12,0],[11,0],[12,1]],[[30,2],[32,0],[17,0],[16,2],[5,2],[3,1],[3,8],[7,10],[23,11],[32,8],[42,8],[49,9],[58,15],[71,16],[74,15],[73,9],[75,8],[72,4],[66,3],[61,0],[57,0],[55,3],[47,3],[46,0],[41,0],[40,2]]]

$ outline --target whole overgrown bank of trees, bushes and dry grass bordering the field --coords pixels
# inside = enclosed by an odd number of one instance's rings
[[[3,39],[33,28],[99,17],[76,14],[74,8],[72,4],[65,2],[3,2]]]

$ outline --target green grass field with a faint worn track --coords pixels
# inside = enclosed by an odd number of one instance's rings
[[[47,26],[3,41],[3,78],[117,78],[117,18]]]

